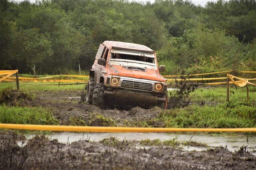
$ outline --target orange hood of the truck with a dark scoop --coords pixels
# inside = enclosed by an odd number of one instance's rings
[[[109,65],[109,70],[112,72],[110,75],[113,76],[122,76],[122,77],[131,77],[137,79],[147,79],[154,80],[159,82],[165,82],[165,79],[157,73],[154,69],[145,69],[140,71],[140,69],[123,67],[119,65]]]

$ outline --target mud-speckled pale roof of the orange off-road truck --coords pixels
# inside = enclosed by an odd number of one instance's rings
[[[148,53],[155,53],[154,50],[150,49],[145,45],[134,44],[129,42],[120,42],[120,41],[104,41],[103,44],[107,47],[112,49],[125,49],[125,50],[132,50],[132,51],[141,51],[141,52],[148,52]]]

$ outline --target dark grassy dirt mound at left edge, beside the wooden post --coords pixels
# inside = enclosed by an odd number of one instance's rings
[[[32,99],[33,96],[28,92],[14,88],[5,88],[0,91],[0,104],[6,104],[7,106],[17,106],[25,100]]]

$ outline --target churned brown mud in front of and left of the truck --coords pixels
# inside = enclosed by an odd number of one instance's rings
[[[23,105],[49,109],[60,120],[61,125],[142,126],[140,122],[147,122],[154,127],[165,127],[162,122],[151,121],[162,111],[160,108],[102,110],[85,102],[79,103],[79,91],[37,91],[35,94],[32,101],[26,101]]]

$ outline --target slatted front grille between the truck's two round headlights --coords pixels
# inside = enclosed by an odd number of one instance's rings
[[[152,84],[135,82],[130,80],[123,80],[121,83],[121,87],[135,90],[152,91]]]

